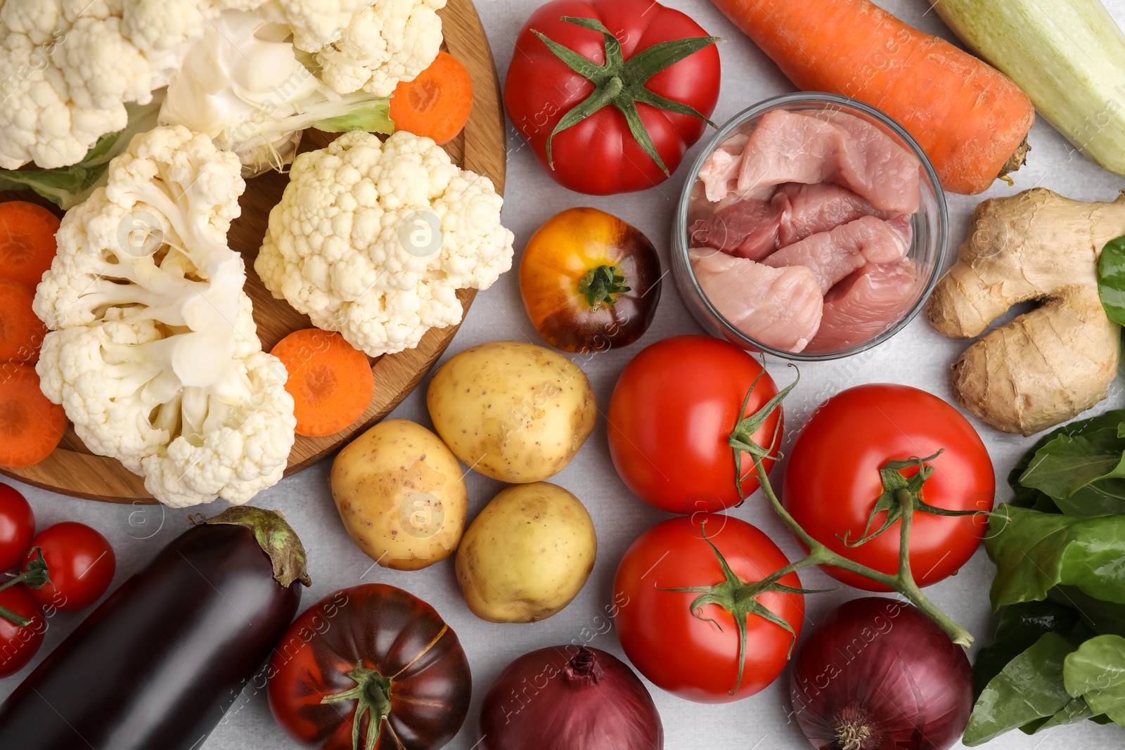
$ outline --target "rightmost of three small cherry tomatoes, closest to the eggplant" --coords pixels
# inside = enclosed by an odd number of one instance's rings
[[[29,593],[42,606],[83,609],[100,599],[114,580],[114,549],[86,524],[66,521],[47,526],[32,540],[28,561],[35,558],[37,546],[43,549],[51,582]]]

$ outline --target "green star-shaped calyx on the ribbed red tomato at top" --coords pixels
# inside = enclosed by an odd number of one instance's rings
[[[570,111],[564,115],[555,126],[555,129],[551,130],[550,136],[547,138],[547,163],[552,170],[555,169],[551,142],[557,134],[577,125],[603,107],[613,106],[624,115],[626,121],[629,124],[629,130],[640,147],[645,150],[645,153],[656,162],[657,166],[665,174],[670,175],[672,173],[664,164],[664,160],[660,159],[660,154],[657,153],[656,146],[652,144],[652,138],[648,135],[648,130],[640,119],[637,102],[677,115],[698,117],[711,127],[716,127],[714,123],[696,109],[683,102],[666,99],[654,93],[645,87],[645,83],[664,69],[695,54],[700,49],[721,42],[721,39],[717,36],[672,39],[655,44],[647,49],[638,52],[629,60],[624,60],[621,43],[601,21],[594,18],[575,18],[572,16],[562,16],[561,20],[588,28],[593,31],[601,31],[605,37],[605,64],[598,65],[588,57],[583,57],[574,49],[550,39],[544,34],[531,29],[532,34],[538,36],[555,53],[556,57],[566,63],[575,73],[594,84],[594,91],[583,102],[576,105]]]

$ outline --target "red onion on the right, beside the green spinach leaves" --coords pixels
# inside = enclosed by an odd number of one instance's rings
[[[804,641],[790,695],[814,748],[946,750],[973,708],[972,669],[917,607],[866,597],[832,609]]]

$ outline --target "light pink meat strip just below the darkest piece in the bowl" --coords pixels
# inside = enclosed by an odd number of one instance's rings
[[[889,222],[863,216],[782,247],[762,262],[773,268],[804,265],[816,274],[821,293],[828,293],[864,263],[894,263],[906,257],[910,236],[909,216]]]

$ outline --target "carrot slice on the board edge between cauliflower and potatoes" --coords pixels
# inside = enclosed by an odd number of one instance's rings
[[[271,353],[289,372],[285,389],[296,403],[298,435],[335,434],[359,419],[371,403],[375,376],[367,355],[339,333],[296,331]]]

